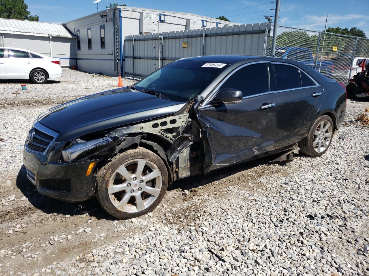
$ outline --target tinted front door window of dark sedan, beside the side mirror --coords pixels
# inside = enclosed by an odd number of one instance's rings
[[[224,82],[220,89],[227,87],[242,91],[244,97],[268,92],[268,65],[258,63],[239,69]]]

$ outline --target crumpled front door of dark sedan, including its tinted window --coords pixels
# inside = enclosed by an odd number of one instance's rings
[[[242,91],[239,103],[211,104],[222,88]],[[246,160],[273,149],[277,131],[275,95],[269,89],[268,63],[241,66],[225,78],[198,110],[211,163],[205,171]],[[205,155],[209,153],[205,152]],[[209,160],[210,161],[210,160]]]

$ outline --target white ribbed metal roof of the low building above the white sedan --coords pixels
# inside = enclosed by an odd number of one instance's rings
[[[18,33],[37,36],[74,37],[61,24],[0,18],[0,33]]]

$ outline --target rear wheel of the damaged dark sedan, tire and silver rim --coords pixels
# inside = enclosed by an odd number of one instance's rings
[[[300,151],[312,157],[323,155],[331,145],[333,131],[331,117],[323,115],[317,118],[306,137],[299,142]]]

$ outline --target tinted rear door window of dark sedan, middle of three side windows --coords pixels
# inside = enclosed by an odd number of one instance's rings
[[[284,64],[273,64],[276,74],[277,90],[294,89],[301,87],[299,69]]]

